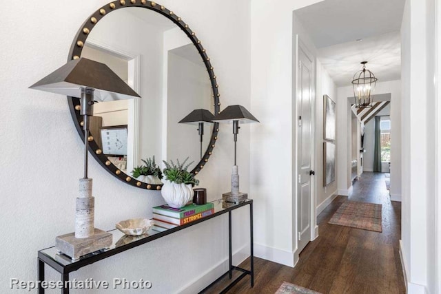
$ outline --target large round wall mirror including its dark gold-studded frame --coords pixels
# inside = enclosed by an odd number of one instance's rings
[[[110,174],[135,187],[159,190],[161,182],[133,174],[147,158],[155,158],[160,167],[162,160],[188,158],[193,174],[203,169],[215,147],[218,123],[194,114],[201,109],[218,114],[220,95],[209,57],[189,25],[158,3],[114,1],[81,26],[69,59],[79,57],[105,63],[141,96],[94,104],[90,152]],[[83,139],[79,99],[68,101]]]

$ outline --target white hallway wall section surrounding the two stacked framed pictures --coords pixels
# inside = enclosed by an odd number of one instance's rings
[[[323,177],[325,169],[323,169],[323,119],[324,119],[324,99],[323,95],[329,96],[335,103],[337,100],[337,87],[332,81],[325,68],[316,61],[317,70],[317,90],[316,90],[316,197],[317,197],[317,214],[323,211],[329,203],[337,196],[338,171],[336,170],[336,180],[327,187],[323,187]],[[337,109],[337,106],[336,106]],[[340,114],[336,113],[336,117]],[[336,129],[338,133],[338,129]],[[337,139],[337,136],[336,136]],[[339,147],[338,141],[334,141]],[[337,160],[337,159],[336,159]],[[337,162],[337,161],[336,161]],[[337,167],[337,166],[336,166]]]

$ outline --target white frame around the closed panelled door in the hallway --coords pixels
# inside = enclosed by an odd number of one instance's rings
[[[311,169],[316,170],[316,142],[315,142],[315,134],[316,134],[316,88],[317,88],[317,62],[316,55],[313,54],[312,50],[302,41],[302,38],[298,34],[294,34],[294,59],[293,59],[293,107],[294,107],[294,117],[293,117],[293,127],[295,129],[294,134],[294,154],[293,154],[293,252],[294,252],[294,266],[298,262],[298,255],[300,251],[298,250],[298,70],[299,70],[299,59],[298,52],[302,48],[302,51],[311,59],[312,61],[312,86],[313,93],[311,94]],[[318,225],[317,225],[317,200],[316,200],[316,177],[311,177],[311,206],[310,206],[310,230],[311,230],[311,240],[313,241],[318,237]]]

